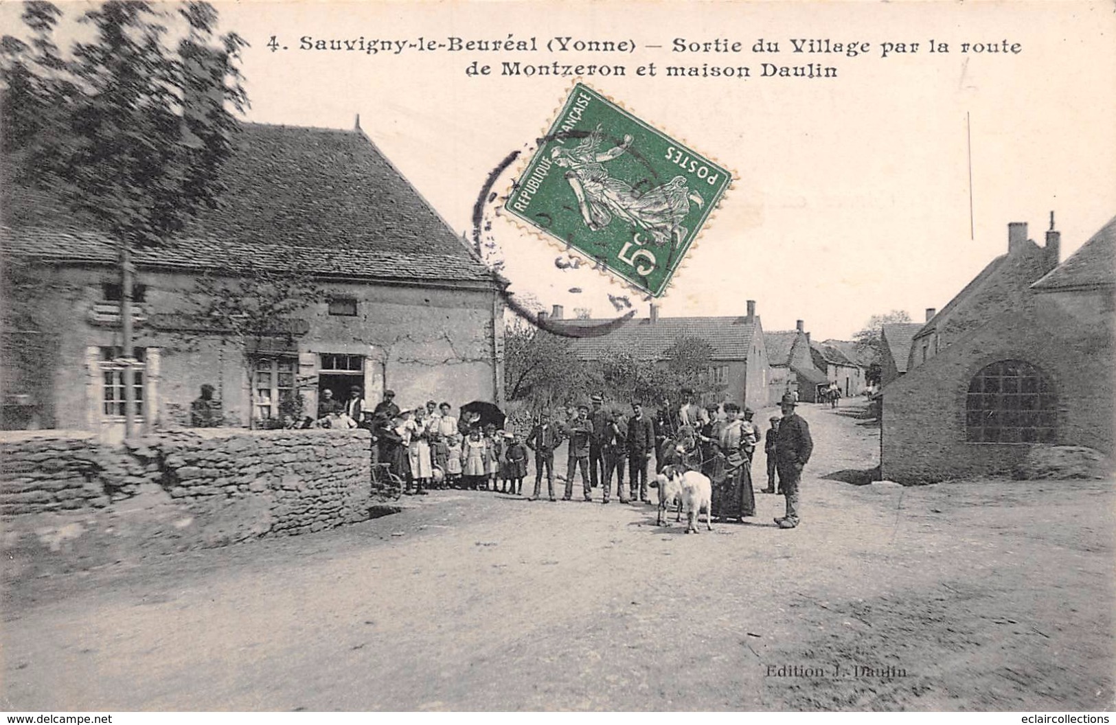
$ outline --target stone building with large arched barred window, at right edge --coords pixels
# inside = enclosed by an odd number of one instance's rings
[[[1018,300],[887,386],[884,477],[1006,473],[1040,444],[1113,453],[1116,219]]]

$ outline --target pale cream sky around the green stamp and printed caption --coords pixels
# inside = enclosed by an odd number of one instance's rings
[[[626,66],[624,77],[581,79],[735,174],[658,300],[663,316],[743,315],[745,301],[756,300],[767,330],[802,319],[814,339],[847,339],[872,315],[898,309],[921,320],[925,308],[944,307],[1007,251],[1009,222],[1028,222],[1041,244],[1055,211],[1065,259],[1116,215],[1110,2],[215,6],[222,26],[251,44],[242,64],[247,119],[352,128],[359,114],[364,132],[459,233],[471,229],[489,172],[549,126],[575,80],[502,76],[500,64]],[[0,12],[4,23],[12,17],[10,7]],[[509,36],[533,37],[540,48],[568,36],[627,40],[635,49],[299,49],[304,37]],[[272,37],[278,50],[269,47]],[[722,39],[741,50],[675,52],[675,39]],[[779,42],[781,52],[752,52],[759,39]],[[855,57],[792,54],[790,39],[869,47]],[[949,51],[931,54],[931,39]],[[885,42],[894,46],[882,57]],[[982,52],[962,52],[963,42],[982,44]],[[1010,51],[1013,44],[1019,52]],[[474,60],[492,74],[466,76]],[[660,74],[636,76],[648,62]],[[762,78],[761,62],[819,62],[838,75]],[[702,64],[748,66],[753,77],[662,72]],[[507,191],[512,175],[501,176],[497,191]],[[598,317],[617,313],[608,294],[627,296],[646,315],[650,300],[591,269],[560,270],[548,242],[506,219],[489,221],[512,291]]]

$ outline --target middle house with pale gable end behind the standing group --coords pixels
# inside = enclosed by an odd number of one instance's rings
[[[633,319],[602,337],[576,339],[574,352],[581,360],[596,361],[609,350],[620,349],[638,359],[662,361],[663,352],[675,340],[701,338],[712,347],[708,375],[711,381],[725,386],[724,400],[762,407],[768,399],[768,354],[756,302],[748,300],[747,306],[748,313],[742,317],[660,317],[658,307],[652,304],[646,318]]]

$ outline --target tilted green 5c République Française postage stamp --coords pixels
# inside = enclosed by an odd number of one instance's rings
[[[504,209],[660,297],[732,174],[577,84]]]

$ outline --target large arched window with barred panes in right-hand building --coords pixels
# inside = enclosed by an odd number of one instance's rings
[[[965,433],[971,443],[1055,443],[1057,402],[1030,362],[1001,360],[969,383]]]

